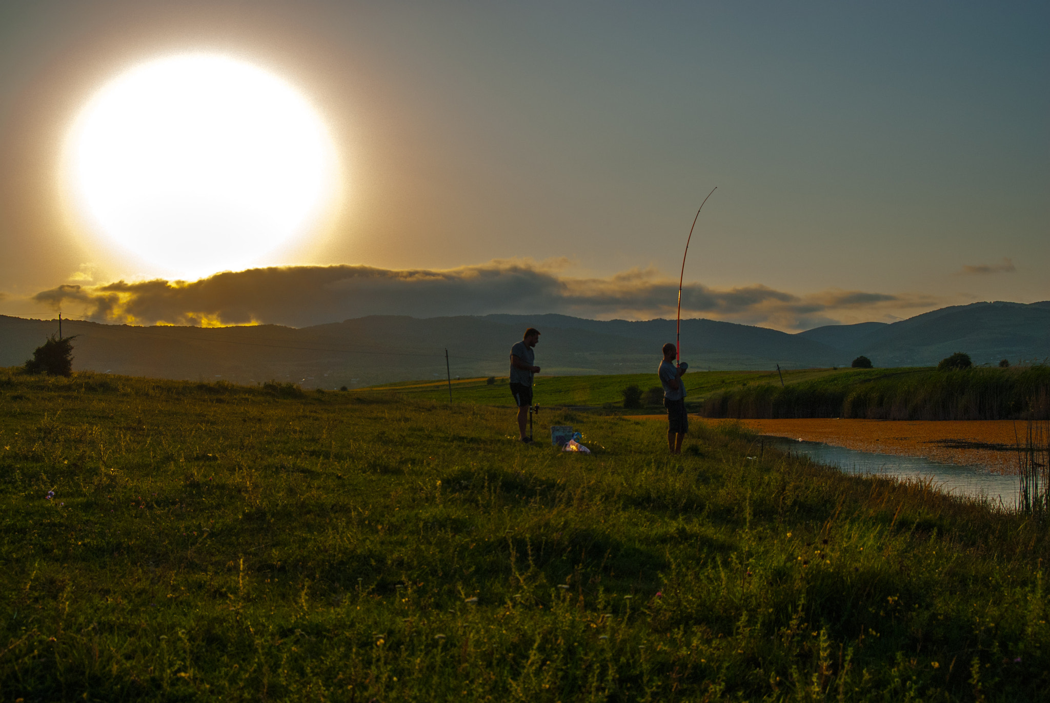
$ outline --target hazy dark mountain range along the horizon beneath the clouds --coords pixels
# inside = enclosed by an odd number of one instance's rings
[[[503,375],[510,345],[526,327],[542,332],[544,373],[637,373],[653,370],[659,347],[674,340],[674,321],[601,322],[567,315],[427,317],[374,315],[295,329],[134,327],[63,321],[77,370],[125,375],[287,380],[304,388],[360,387],[445,376]],[[58,329],[57,321],[0,315],[0,366],[17,366]],[[1050,356],[1050,302],[974,303],[894,324],[830,325],[788,334],[710,319],[681,323],[682,358],[695,369],[848,366],[863,354],[877,367],[931,366],[956,351],[975,364]]]

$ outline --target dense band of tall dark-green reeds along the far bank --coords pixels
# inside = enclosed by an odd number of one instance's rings
[[[886,371],[876,377],[821,378],[715,393],[697,411],[707,417],[855,417],[964,420],[1050,417],[1050,367]]]

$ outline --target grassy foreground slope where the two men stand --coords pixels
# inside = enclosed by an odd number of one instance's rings
[[[0,372],[0,700],[1045,700],[1045,524],[541,418]]]

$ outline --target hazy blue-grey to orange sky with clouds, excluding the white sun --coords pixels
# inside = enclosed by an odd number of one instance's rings
[[[1047,26],[1046,3],[5,1],[0,314],[668,317],[715,186],[684,316],[1048,299]],[[295,86],[337,150],[331,218],[256,270],[138,261],[64,205],[91,96],[187,51]]]

